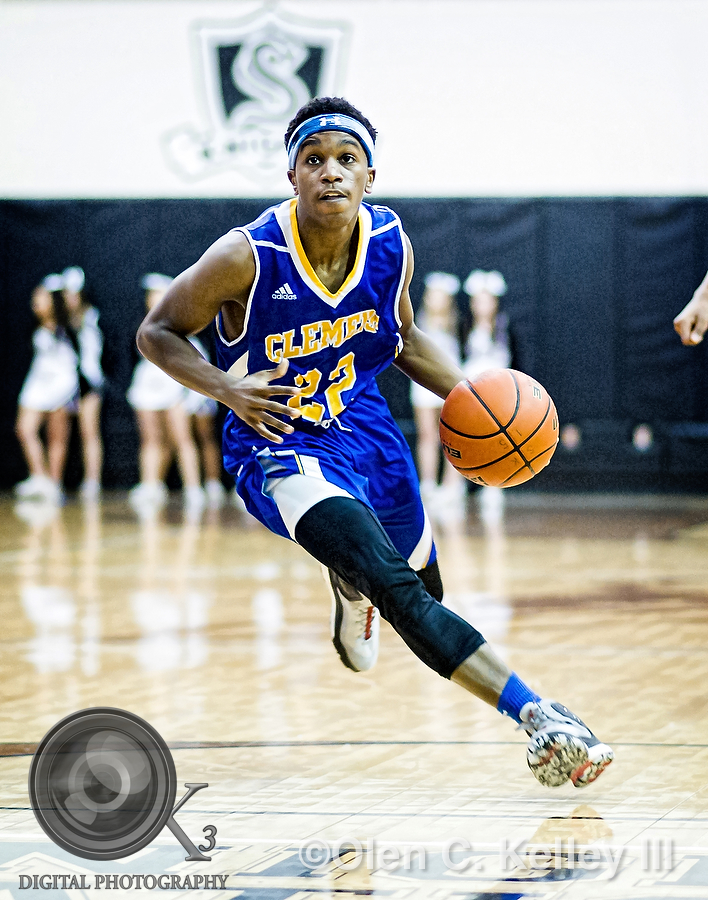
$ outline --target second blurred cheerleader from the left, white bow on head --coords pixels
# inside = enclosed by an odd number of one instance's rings
[[[104,376],[101,368],[103,334],[98,326],[98,310],[83,297],[83,269],[71,266],[62,272],[64,302],[69,310],[79,352],[79,431],[84,459],[81,497],[92,501],[101,491],[103,440],[101,438],[101,403]]]

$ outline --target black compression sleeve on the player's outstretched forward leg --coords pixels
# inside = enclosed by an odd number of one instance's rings
[[[360,501],[320,501],[297,523],[295,539],[368,597],[416,656],[443,678],[484,643],[469,623],[433,600]]]

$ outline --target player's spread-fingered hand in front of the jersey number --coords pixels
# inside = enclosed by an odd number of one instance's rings
[[[285,375],[288,365],[288,360],[284,359],[275,369],[264,369],[246,375],[238,380],[229,392],[228,399],[224,400],[239,419],[243,419],[254,431],[275,444],[283,443],[277,432],[292,434],[294,431],[289,422],[277,419],[276,416],[289,416],[291,419],[300,417],[298,409],[270,399],[277,395],[298,397],[302,393],[302,389],[294,385],[271,384]]]

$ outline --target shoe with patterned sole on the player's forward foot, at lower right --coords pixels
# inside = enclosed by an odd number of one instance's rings
[[[587,725],[561,703],[540,700],[521,710],[521,727],[531,736],[526,750],[529,768],[546,787],[571,781],[592,784],[614,759]]]

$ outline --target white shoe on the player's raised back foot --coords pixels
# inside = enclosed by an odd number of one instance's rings
[[[356,588],[322,567],[332,598],[332,643],[348,669],[366,672],[379,656],[379,611]]]

